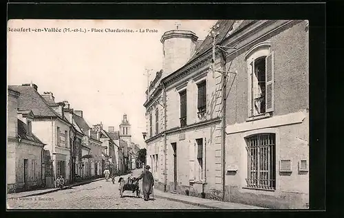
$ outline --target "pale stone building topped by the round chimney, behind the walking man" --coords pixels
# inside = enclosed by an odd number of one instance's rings
[[[210,193],[221,188],[215,162],[221,137],[219,79],[208,72],[211,57],[202,54],[203,42],[197,42],[193,32],[165,32],[161,42],[163,69],[150,84],[144,103],[147,164],[161,190]]]

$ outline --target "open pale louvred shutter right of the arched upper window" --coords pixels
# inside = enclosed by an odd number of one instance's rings
[[[266,112],[274,111],[274,52],[266,56]]]

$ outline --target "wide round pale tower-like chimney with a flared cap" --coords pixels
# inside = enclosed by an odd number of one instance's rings
[[[198,37],[189,30],[170,30],[160,41],[163,47],[162,78],[180,69],[195,53]],[[178,50],[178,52],[175,52]]]

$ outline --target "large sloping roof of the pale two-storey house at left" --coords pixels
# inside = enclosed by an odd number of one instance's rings
[[[60,117],[34,87],[21,85],[10,85],[9,87],[21,94],[18,98],[19,110],[31,110],[34,116]]]

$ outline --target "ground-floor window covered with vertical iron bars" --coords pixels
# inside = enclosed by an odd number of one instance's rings
[[[276,188],[275,134],[263,133],[246,138],[248,154],[247,186]]]

